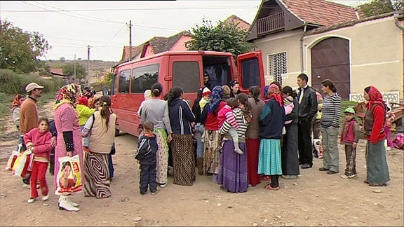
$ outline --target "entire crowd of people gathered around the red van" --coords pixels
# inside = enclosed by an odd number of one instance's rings
[[[355,110],[349,107],[344,110],[344,123],[339,129],[342,101],[334,83],[323,81],[323,95],[319,95],[308,81],[306,74],[299,74],[297,92],[274,81],[262,91],[258,86],[250,87],[247,95],[240,92],[237,81],[212,88],[204,75],[204,85],[192,105],[184,99],[183,88],[163,91],[160,83],[152,85],[144,92],[138,111],[142,133],[135,158],[140,164],[140,194],[150,191],[156,195],[157,186],[164,188],[168,184],[169,158],[172,158],[173,184],[192,186],[197,169],[199,175],[212,177],[222,191],[244,193],[249,186],[262,181],[269,181],[265,189],[278,190],[280,178],[297,179],[300,169],[313,166],[313,138],[320,137],[323,167],[319,171],[337,174],[339,134],[339,143],[344,144],[346,154],[346,169],[341,177],[354,179],[361,131],[367,140],[365,184],[386,186],[387,112],[382,94],[374,86],[365,88],[368,108],[363,127],[355,119]],[[60,182],[69,185],[67,179],[61,181],[57,174],[63,172],[66,177],[72,171],[72,166],[60,166],[58,162],[65,156],[79,157],[85,196],[111,196],[117,124],[111,99],[95,97],[90,89],[81,90],[74,83],[65,85],[56,99],[54,118],[48,121],[39,118],[36,106],[43,86],[29,83],[25,90],[27,97],[15,96],[13,120],[20,132],[18,149],[29,150],[34,156],[30,177],[22,179],[24,187],[31,189],[27,202],[39,197],[38,188],[43,195],[41,199],[48,200],[49,163],[55,186]],[[314,129],[315,123],[320,132]],[[78,206],[72,201],[72,194],[60,195],[60,209],[79,211]]]

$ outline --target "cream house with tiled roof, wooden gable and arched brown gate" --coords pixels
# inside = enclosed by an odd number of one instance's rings
[[[262,50],[266,83],[296,87],[304,72],[318,90],[334,81],[343,99],[363,100],[368,85],[403,98],[403,11],[361,18],[329,1],[263,0],[247,41]]]

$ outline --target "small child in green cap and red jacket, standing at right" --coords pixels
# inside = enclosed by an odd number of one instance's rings
[[[355,110],[348,107],[344,110],[345,121],[341,131],[341,144],[345,144],[346,169],[341,176],[344,179],[356,177],[356,146],[361,136],[359,123],[355,119]]]

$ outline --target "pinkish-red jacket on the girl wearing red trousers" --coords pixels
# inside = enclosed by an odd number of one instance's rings
[[[24,135],[24,142],[27,147],[34,146],[34,160],[37,161],[49,161],[50,150],[50,139],[52,139],[52,134],[47,132],[39,132],[38,128],[33,128]]]

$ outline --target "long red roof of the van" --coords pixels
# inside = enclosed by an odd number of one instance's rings
[[[149,55],[147,57],[138,58],[135,60],[131,60],[130,62],[122,62],[120,64],[116,64],[113,68],[123,66],[126,64],[132,64],[134,62],[142,62],[144,60],[149,60],[154,57],[161,57],[163,55],[216,55],[216,56],[233,56],[231,53],[227,52],[218,52],[218,51],[208,51],[208,50],[184,50],[184,51],[165,51],[162,53],[158,53],[155,55]]]

